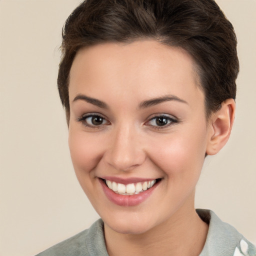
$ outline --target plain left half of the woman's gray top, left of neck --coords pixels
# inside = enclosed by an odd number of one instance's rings
[[[103,222],[101,219],[95,221],[89,229],[83,230],[64,241],[53,245],[36,256],[81,255],[107,255],[103,235]]]

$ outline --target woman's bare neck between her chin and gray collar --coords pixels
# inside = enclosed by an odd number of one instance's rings
[[[198,256],[203,248],[208,225],[194,206],[181,207],[168,220],[141,234],[122,234],[104,224],[109,256],[183,255]]]

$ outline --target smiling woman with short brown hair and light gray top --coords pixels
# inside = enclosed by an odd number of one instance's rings
[[[212,0],[87,0],[63,30],[58,89],[76,176],[102,220],[38,255],[256,255],[194,209],[228,140],[236,37]]]

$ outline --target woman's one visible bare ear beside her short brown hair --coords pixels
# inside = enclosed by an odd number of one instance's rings
[[[234,121],[235,102],[229,98],[222,102],[221,108],[209,120],[209,138],[206,154],[216,154],[227,142]]]

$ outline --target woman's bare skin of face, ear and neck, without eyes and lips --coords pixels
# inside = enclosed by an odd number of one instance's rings
[[[70,154],[82,189],[104,221],[110,256],[202,250],[208,227],[194,209],[195,185],[205,153],[215,154],[228,139],[234,102],[228,99],[206,120],[193,67],[186,51],[154,40],[80,49],[72,63]],[[166,95],[172,99],[141,107]],[[91,119],[81,117],[91,113],[102,116],[102,124],[86,126]],[[162,114],[174,121],[159,128],[152,118]],[[143,202],[120,206],[103,192],[104,176],[160,182]]]

